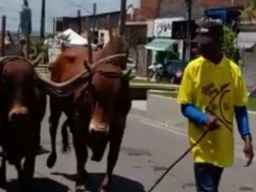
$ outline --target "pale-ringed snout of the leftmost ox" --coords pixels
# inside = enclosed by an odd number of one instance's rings
[[[22,120],[24,118],[27,119],[28,115],[28,108],[26,106],[15,104],[8,114],[8,120],[12,122],[15,120]]]

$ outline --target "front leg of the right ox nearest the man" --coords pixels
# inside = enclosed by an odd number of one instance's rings
[[[125,119],[114,122],[110,126],[110,148],[108,152],[107,172],[100,186],[100,192],[106,192],[110,184],[111,176],[118,160],[124,128]]]

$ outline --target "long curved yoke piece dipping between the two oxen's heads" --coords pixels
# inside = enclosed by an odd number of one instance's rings
[[[74,78],[63,82],[63,83],[56,83],[52,82],[51,80],[46,80],[35,72],[35,79],[37,86],[42,88],[46,91],[47,94],[54,95],[57,97],[66,97],[73,94],[78,88],[86,83],[86,80],[89,78],[90,72],[84,70],[80,74],[76,75]]]

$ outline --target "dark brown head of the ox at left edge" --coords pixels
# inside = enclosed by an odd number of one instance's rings
[[[0,62],[0,97],[2,109],[9,122],[28,120],[29,102],[34,94],[34,69],[40,62],[7,57]]]

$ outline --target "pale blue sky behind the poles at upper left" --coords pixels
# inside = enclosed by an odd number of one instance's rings
[[[40,30],[42,0],[28,0],[32,10],[32,30]],[[46,0],[46,31],[52,31],[53,18],[58,16],[76,16],[80,8],[82,15],[92,14],[93,3],[97,3],[97,13],[120,10],[121,0]],[[6,29],[17,31],[19,12],[23,0],[0,0],[0,16],[6,15]],[[139,0],[127,0],[127,4],[139,6]]]

